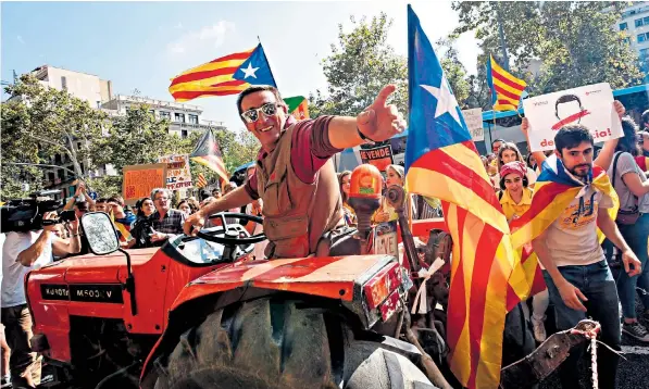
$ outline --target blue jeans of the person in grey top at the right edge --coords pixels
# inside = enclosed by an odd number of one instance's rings
[[[642,264],[642,273],[629,277],[624,268],[617,275],[617,294],[622,303],[622,314],[626,318],[636,317],[636,285],[649,291],[649,268],[647,268],[647,240],[649,240],[649,214],[645,213],[634,225],[619,224],[620,233],[631,250]],[[645,310],[649,310],[649,294],[640,292],[640,300]]]

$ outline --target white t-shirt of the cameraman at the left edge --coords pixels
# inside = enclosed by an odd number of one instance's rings
[[[2,244],[2,308],[27,303],[25,299],[25,275],[52,262],[52,239],[42,254],[29,267],[16,262],[18,254],[28,249],[42,231],[9,233]]]

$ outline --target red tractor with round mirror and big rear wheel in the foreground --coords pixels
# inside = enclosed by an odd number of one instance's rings
[[[388,192],[402,204],[399,190]],[[226,223],[259,217],[212,217],[222,225],[197,237],[124,251],[107,214],[84,215],[93,254],[45,266],[25,280],[32,348],[43,355],[49,376],[42,386],[450,388],[438,335],[446,321],[433,313],[411,318],[403,309],[414,289],[409,269],[448,261],[448,236],[433,230],[417,251],[401,223],[405,260],[359,255],[369,237],[361,212],[361,239],[349,230],[329,237],[317,256],[266,261],[251,258],[263,235]],[[433,221],[415,230],[428,235],[441,225]],[[447,281],[442,275],[426,286],[429,305],[446,310]],[[547,365],[556,367],[564,351],[553,349]],[[544,369],[525,363],[509,376],[525,384],[542,378]]]

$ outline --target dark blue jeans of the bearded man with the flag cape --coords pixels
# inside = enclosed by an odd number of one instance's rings
[[[609,269],[607,261],[584,265],[584,266],[561,266],[561,275],[570,284],[578,288],[588,301],[584,305],[588,312],[575,311],[565,305],[561,294],[547,271],[544,271],[544,278],[548,286],[550,301],[554,305],[557,329],[564,330],[574,327],[579,321],[586,318],[586,314],[601,324],[599,340],[607,343],[613,350],[620,351],[620,310],[617,308],[617,290],[615,280]],[[559,375],[564,389],[579,388],[579,375],[577,363],[582,357],[584,347],[575,348],[567,360],[562,364]],[[597,349],[597,367],[600,388],[615,388],[615,375],[617,372],[619,356],[606,347]]]

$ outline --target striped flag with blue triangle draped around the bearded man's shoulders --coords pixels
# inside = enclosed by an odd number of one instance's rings
[[[514,293],[509,294],[508,305],[515,304],[545,288],[538,258],[527,243],[554,223],[575,198],[582,198],[583,190],[587,186],[592,186],[612,199],[613,208],[608,211],[615,219],[620,200],[603,168],[594,166],[584,183],[567,172],[557,155],[551,155],[544,161],[541,174],[534,186],[529,210],[511,223],[512,244],[514,248],[522,248],[523,253],[521,266],[514,268],[510,278],[511,291]],[[598,237],[602,242],[604,235],[599,229]]]

